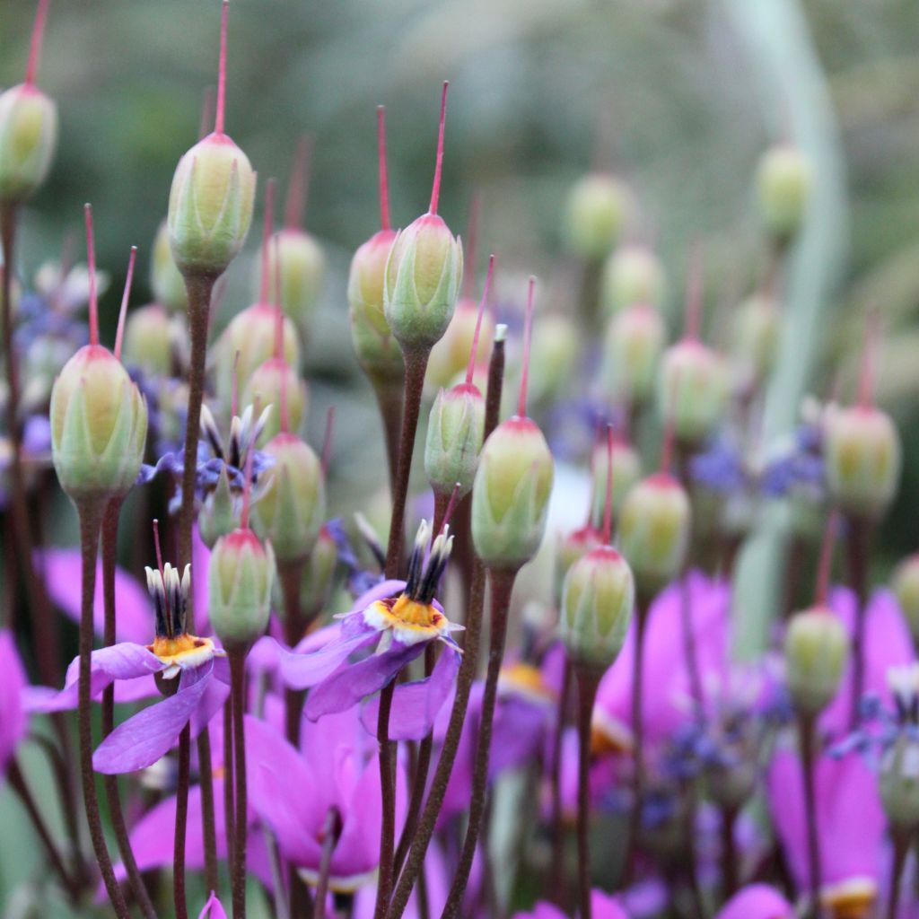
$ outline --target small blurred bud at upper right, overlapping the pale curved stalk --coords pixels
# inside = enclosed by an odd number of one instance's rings
[[[760,217],[778,243],[798,233],[811,197],[811,164],[790,144],[777,144],[763,154],[756,171]]]

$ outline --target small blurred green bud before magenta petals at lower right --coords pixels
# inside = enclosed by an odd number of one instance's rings
[[[785,633],[785,673],[792,704],[813,718],[836,695],[849,656],[849,638],[828,607],[796,613]]]

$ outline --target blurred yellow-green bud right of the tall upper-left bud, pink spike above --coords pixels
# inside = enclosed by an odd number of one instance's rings
[[[278,302],[276,278],[280,259],[280,304],[304,338],[323,292],[325,255],[311,233],[288,228],[275,233],[268,246],[268,300]]]

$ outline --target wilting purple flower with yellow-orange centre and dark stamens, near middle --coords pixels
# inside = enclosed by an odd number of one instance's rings
[[[425,565],[427,539],[428,529],[422,523],[407,580],[404,584],[384,581],[361,596],[354,610],[338,617],[342,622],[337,639],[316,652],[282,653],[284,682],[294,689],[312,689],[304,708],[311,720],[345,711],[373,696],[437,641],[445,649],[433,673],[396,687],[390,726],[393,740],[417,740],[430,732],[459,669],[460,651],[450,633],[462,627],[451,623],[434,599],[453,538],[446,531],[438,536]],[[400,588],[402,592],[395,596]],[[350,660],[371,648],[369,655]],[[366,711],[369,724],[375,720],[375,704],[370,703]]]

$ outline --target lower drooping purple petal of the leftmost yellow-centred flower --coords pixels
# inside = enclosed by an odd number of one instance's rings
[[[108,775],[153,766],[187,725],[210,683],[213,665],[185,670],[178,692],[120,724],[96,748],[93,768]]]

